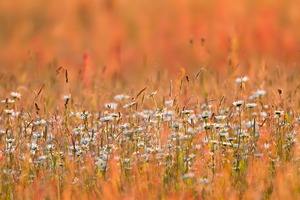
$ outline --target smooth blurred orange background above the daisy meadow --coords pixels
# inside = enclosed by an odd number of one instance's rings
[[[3,0],[0,69],[286,67],[300,58],[299,10],[298,0]]]

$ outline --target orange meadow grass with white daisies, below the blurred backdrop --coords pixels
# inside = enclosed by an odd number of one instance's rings
[[[298,199],[299,70],[252,70],[4,74],[1,199]]]

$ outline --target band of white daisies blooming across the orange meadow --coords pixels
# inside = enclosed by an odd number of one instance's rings
[[[237,84],[246,81],[236,79]],[[145,101],[155,101],[158,94],[147,94]],[[18,110],[21,94],[12,92],[1,101],[1,154],[8,163],[3,173],[16,178],[25,173],[22,163],[28,163],[30,179],[41,169],[54,176],[54,169],[70,162],[78,163],[80,173],[92,159],[95,176],[105,176],[114,161],[123,176],[151,164],[161,167],[166,184],[175,178],[207,184],[225,165],[240,172],[245,160],[262,157],[275,157],[280,164],[298,145],[300,119],[292,110],[265,104],[265,95],[257,90],[227,105],[211,102],[189,109],[169,99],[161,107],[143,109],[139,100],[120,94],[96,113],[66,109],[47,118]],[[206,174],[199,165],[208,168]],[[74,177],[72,183],[77,181]]]

